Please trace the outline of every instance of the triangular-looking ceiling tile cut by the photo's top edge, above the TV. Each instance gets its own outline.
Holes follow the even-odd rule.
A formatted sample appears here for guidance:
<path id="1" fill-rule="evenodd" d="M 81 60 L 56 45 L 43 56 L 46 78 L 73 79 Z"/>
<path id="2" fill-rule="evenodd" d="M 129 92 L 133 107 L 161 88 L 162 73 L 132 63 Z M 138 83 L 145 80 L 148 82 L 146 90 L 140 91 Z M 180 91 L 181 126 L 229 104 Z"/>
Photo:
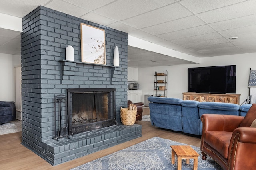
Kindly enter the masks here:
<path id="1" fill-rule="evenodd" d="M 246 0 L 182 0 L 180 3 L 197 14 L 243 1 Z"/>

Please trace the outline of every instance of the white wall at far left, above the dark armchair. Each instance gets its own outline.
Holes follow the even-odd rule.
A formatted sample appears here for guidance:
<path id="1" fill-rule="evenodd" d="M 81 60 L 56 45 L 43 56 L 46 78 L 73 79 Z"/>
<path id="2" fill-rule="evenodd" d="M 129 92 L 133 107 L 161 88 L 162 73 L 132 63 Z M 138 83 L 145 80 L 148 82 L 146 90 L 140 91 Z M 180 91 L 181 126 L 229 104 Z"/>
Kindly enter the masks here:
<path id="1" fill-rule="evenodd" d="M 0 101 L 15 101 L 15 69 L 20 56 L 0 53 Z"/>

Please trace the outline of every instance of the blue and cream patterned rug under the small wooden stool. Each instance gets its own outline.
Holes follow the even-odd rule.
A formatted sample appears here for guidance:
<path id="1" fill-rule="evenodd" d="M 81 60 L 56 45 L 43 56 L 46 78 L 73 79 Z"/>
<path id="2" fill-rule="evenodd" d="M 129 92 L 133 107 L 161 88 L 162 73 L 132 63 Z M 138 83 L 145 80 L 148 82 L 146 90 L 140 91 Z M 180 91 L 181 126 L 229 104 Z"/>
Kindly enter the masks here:
<path id="1" fill-rule="evenodd" d="M 186 145 L 160 137 L 153 137 L 126 149 L 109 154 L 102 158 L 88 162 L 72 170 L 176 170 L 175 164 L 171 164 L 170 145 Z M 222 170 L 222 168 L 210 157 L 202 160 L 199 147 L 191 146 L 198 154 L 198 170 Z M 189 164 L 182 159 L 182 170 L 192 170 L 193 160 Z"/>

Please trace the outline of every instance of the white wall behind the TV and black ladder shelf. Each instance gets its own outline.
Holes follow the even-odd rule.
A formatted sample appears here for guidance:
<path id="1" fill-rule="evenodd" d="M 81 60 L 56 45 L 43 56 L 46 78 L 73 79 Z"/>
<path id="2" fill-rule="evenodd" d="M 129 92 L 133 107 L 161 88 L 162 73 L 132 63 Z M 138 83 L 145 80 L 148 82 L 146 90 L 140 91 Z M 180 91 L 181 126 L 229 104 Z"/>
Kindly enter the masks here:
<path id="1" fill-rule="evenodd" d="M 138 83 L 142 89 L 142 102 L 144 102 L 145 94 L 153 95 L 155 71 L 159 73 L 168 71 L 168 97 L 182 99 L 182 93 L 187 92 L 189 67 L 220 65 L 236 65 L 236 94 L 241 94 L 240 104 L 242 104 L 249 95 L 250 68 L 256 70 L 256 53 L 204 57 L 200 59 L 200 64 L 139 68 Z"/>

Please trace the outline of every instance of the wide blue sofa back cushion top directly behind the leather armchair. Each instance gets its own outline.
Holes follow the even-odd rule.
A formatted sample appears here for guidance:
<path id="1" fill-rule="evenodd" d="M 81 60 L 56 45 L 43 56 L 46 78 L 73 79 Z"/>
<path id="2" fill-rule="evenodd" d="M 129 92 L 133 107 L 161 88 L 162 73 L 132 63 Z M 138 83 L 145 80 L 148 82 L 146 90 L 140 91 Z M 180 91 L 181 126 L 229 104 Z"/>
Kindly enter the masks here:
<path id="1" fill-rule="evenodd" d="M 201 102 L 198 104 L 201 109 L 223 110 L 223 111 L 238 111 L 240 105 L 232 103 L 220 103 L 220 102 Z"/>

